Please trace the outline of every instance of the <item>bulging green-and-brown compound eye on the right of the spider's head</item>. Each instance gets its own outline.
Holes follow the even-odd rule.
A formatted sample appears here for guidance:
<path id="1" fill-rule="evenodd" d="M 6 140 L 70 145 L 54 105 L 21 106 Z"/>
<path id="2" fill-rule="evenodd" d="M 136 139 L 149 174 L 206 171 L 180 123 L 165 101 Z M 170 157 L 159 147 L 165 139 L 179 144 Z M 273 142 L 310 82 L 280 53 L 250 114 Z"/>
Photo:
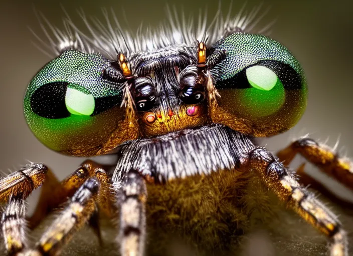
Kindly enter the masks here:
<path id="1" fill-rule="evenodd" d="M 234 33 L 211 51 L 215 49 L 227 51 L 211 72 L 221 95 L 218 111 L 228 121 L 245 119 L 252 128 L 248 133 L 255 136 L 295 125 L 305 110 L 307 88 L 302 68 L 287 48 L 263 35 Z"/>

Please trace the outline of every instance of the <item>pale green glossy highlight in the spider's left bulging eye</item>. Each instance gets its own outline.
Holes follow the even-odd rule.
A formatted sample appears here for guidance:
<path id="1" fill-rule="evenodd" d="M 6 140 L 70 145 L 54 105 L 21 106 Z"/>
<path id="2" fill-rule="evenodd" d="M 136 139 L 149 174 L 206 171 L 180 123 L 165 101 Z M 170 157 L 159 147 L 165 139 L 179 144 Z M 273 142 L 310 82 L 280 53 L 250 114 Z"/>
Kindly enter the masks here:
<path id="1" fill-rule="evenodd" d="M 65 104 L 70 113 L 76 115 L 91 115 L 94 111 L 94 97 L 73 88 L 67 88 Z"/>

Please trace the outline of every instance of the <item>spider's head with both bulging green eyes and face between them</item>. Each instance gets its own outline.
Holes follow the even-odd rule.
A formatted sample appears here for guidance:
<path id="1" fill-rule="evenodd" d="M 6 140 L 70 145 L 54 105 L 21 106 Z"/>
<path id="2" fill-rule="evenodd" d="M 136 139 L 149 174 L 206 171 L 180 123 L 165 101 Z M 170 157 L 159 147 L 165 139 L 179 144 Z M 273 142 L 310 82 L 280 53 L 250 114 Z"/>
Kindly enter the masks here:
<path id="1" fill-rule="evenodd" d="M 305 78 L 279 42 L 236 32 L 200 45 L 135 52 L 128 61 L 66 50 L 31 81 L 27 121 L 44 144 L 74 155 L 210 123 L 268 136 L 298 121 Z"/>

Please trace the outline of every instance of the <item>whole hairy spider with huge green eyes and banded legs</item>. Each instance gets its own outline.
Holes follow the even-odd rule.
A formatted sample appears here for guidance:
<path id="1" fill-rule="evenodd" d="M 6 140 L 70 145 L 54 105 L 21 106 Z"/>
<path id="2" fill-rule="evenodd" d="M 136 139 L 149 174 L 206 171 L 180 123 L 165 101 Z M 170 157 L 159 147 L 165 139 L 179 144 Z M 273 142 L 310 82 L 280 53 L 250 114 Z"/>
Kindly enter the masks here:
<path id="1" fill-rule="evenodd" d="M 175 22 L 139 39 L 98 23 L 103 37 L 90 40 L 66 24 L 74 33 L 56 33 L 58 56 L 27 89 L 27 122 L 53 150 L 119 158 L 113 168 L 87 160 L 60 182 L 43 163 L 2 178 L 8 254 L 59 254 L 85 223 L 99 233 L 99 213 L 119 216 L 121 255 L 142 255 L 146 233 L 159 238 L 169 228 L 206 250 L 227 250 L 247 231 L 244 217 L 254 210 L 247 199 L 259 181 L 329 238 L 331 255 L 347 255 L 336 216 L 286 165 L 299 153 L 351 186 L 350 163 L 309 138 L 278 157 L 254 140 L 288 130 L 305 109 L 305 77 L 287 48 L 246 33 L 237 18 L 210 34 Z M 29 248 L 24 200 L 39 186 L 31 227 L 70 199 Z"/>

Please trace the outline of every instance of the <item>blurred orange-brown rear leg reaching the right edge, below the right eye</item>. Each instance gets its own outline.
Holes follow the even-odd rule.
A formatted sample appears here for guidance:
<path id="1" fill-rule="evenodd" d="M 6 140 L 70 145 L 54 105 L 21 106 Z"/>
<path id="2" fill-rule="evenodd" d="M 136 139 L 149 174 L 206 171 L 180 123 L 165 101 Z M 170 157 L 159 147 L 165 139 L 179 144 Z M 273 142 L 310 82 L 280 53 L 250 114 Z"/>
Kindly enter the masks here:
<path id="1" fill-rule="evenodd" d="M 277 153 L 280 161 L 288 165 L 299 153 L 328 175 L 353 189 L 353 164 L 349 159 L 340 158 L 328 146 L 319 144 L 310 138 L 294 141 Z"/>

